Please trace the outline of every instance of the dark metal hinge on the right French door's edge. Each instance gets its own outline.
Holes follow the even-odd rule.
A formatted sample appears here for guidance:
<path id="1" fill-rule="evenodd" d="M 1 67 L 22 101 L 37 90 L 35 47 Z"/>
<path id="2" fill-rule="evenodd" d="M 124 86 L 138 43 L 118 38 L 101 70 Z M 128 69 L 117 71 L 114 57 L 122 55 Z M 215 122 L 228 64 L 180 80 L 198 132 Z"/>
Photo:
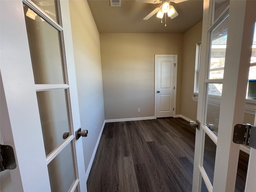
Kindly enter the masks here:
<path id="1" fill-rule="evenodd" d="M 233 142 L 256 149 L 256 127 L 250 124 L 236 124 L 234 126 Z"/>

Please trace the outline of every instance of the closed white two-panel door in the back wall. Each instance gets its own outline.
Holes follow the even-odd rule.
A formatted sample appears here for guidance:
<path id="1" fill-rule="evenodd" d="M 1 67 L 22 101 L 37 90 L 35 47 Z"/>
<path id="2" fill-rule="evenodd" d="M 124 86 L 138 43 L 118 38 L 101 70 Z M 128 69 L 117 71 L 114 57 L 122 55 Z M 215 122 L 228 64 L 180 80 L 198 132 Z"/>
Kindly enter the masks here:
<path id="1" fill-rule="evenodd" d="M 155 55 L 155 117 L 175 114 L 177 55 Z"/>

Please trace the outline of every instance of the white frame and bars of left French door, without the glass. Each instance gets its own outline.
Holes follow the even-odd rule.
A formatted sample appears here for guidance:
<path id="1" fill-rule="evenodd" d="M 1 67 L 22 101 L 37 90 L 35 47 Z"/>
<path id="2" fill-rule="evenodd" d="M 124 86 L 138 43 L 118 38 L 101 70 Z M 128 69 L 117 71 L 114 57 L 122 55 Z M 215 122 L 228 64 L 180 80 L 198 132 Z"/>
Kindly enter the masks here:
<path id="1" fill-rule="evenodd" d="M 33 4 L 30 0 L 26 3 Z M 10 170 L 13 189 L 50 191 L 47 161 L 54 158 L 55 154 L 46 158 L 36 90 L 67 88 L 74 128 L 70 141 L 75 140 L 74 132 L 80 127 L 68 1 L 60 1 L 68 84 L 46 86 L 34 84 L 22 0 L 2 0 L 0 4 L 1 132 L 4 144 L 12 146 L 16 156 L 17 168 Z M 48 16 L 46 19 L 52 20 Z M 82 139 L 74 143 L 76 172 L 79 180 L 85 181 Z M 76 184 L 79 180 L 75 181 Z M 79 185 L 81 191 L 86 191 L 86 182 L 79 182 Z M 70 190 L 74 191 L 75 188 Z"/>

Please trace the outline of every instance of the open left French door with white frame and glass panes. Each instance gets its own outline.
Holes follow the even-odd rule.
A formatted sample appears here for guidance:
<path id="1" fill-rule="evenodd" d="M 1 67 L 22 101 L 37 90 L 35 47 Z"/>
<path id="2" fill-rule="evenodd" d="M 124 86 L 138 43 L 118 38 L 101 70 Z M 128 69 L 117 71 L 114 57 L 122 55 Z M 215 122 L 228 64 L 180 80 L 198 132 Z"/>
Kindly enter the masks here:
<path id="1" fill-rule="evenodd" d="M 68 1 L 2 0 L 0 9 L 1 133 L 17 163 L 12 189 L 86 191 Z"/>

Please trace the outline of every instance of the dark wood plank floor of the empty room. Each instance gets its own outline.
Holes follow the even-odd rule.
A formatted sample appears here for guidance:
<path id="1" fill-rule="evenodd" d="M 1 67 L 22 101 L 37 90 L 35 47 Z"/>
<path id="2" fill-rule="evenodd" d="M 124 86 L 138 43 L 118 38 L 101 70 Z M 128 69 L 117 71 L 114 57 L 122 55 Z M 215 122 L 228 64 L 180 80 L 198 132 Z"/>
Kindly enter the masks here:
<path id="1" fill-rule="evenodd" d="M 190 192 L 194 142 L 195 128 L 182 118 L 106 123 L 88 192 Z M 206 154 L 213 156 L 214 147 L 208 149 Z M 247 154 L 240 157 L 236 191 L 244 190 L 248 164 Z M 210 164 L 205 164 L 209 170 Z"/>

